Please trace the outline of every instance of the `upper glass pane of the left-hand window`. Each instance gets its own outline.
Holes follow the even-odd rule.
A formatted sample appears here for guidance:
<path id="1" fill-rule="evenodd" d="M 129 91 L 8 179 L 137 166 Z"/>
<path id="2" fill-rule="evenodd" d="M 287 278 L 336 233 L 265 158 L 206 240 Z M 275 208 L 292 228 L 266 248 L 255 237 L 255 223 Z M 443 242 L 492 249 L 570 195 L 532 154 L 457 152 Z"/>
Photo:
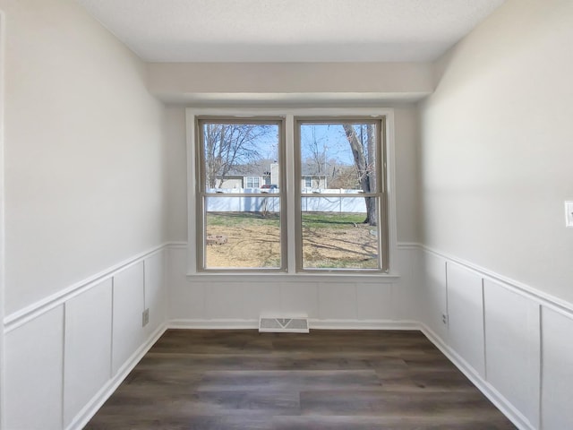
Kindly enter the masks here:
<path id="1" fill-rule="evenodd" d="M 200 121 L 201 190 L 207 193 L 261 193 L 261 185 L 278 188 L 278 124 Z"/>

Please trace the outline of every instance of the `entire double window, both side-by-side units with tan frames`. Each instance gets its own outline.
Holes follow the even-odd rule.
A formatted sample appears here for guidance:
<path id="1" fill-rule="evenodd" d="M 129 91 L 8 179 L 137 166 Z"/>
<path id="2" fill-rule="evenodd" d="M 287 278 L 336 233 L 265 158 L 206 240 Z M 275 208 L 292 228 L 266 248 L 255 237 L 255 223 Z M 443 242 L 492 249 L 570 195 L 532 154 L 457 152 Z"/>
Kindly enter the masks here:
<path id="1" fill-rule="evenodd" d="M 192 272 L 389 271 L 386 116 L 190 121 Z"/>

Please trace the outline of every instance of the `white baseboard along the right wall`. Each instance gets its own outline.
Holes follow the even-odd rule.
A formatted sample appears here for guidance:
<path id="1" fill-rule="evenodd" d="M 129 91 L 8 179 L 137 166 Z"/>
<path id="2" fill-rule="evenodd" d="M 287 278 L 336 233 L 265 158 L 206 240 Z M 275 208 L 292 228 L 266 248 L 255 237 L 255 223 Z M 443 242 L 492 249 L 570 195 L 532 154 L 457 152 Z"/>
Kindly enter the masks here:
<path id="1" fill-rule="evenodd" d="M 475 372 L 475 370 L 469 366 L 464 359 L 458 356 L 458 354 L 448 345 L 446 345 L 440 337 L 434 333 L 427 325 L 423 323 L 418 323 L 419 330 L 421 330 L 426 338 L 430 340 L 436 348 L 440 349 L 442 354 L 449 358 L 458 369 L 466 375 L 479 391 L 483 392 L 483 395 L 487 397 L 496 408 L 500 409 L 508 419 L 517 426 L 520 430 L 535 430 L 535 427 L 529 423 L 526 417 L 523 416 L 513 405 L 503 397 L 499 391 L 493 388 L 491 383 L 484 381 L 483 378 Z"/>

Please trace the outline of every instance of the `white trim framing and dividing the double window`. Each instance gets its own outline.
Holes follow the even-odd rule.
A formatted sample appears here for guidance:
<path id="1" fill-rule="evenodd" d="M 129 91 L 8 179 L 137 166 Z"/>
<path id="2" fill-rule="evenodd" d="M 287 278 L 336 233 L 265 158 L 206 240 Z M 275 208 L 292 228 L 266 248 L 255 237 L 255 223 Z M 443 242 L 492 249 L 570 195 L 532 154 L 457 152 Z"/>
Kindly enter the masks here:
<path id="1" fill-rule="evenodd" d="M 197 234 L 194 214 L 196 213 L 196 178 L 195 168 L 197 166 L 195 159 L 195 142 L 196 142 L 196 117 L 197 116 L 228 116 L 228 117 L 261 117 L 261 116 L 280 116 L 285 118 L 285 134 L 286 134 L 286 190 L 295 190 L 295 153 L 294 153 L 294 130 L 295 130 L 295 116 L 386 116 L 386 180 L 388 181 L 387 199 L 388 199 L 388 252 L 389 252 L 389 271 L 387 273 L 336 273 L 336 272 L 296 272 L 295 267 L 295 235 L 286 236 L 286 249 L 288 250 L 287 259 L 288 266 L 286 272 L 271 272 L 264 273 L 256 272 L 256 276 L 267 276 L 288 279 L 309 279 L 313 280 L 329 280 L 340 279 L 344 277 L 346 280 L 384 280 L 388 282 L 397 278 L 396 274 L 396 254 L 398 253 L 398 235 L 396 225 L 396 185 L 395 185 L 395 151 L 394 151 L 394 109 L 391 108 L 369 108 L 369 107 L 336 107 L 336 108 L 227 108 L 227 107 L 213 107 L 213 108 L 193 108 L 188 107 L 185 109 L 186 121 L 186 136 L 187 136 L 187 277 L 192 280 L 210 279 L 215 280 L 229 279 L 229 277 L 241 277 L 241 279 L 248 280 L 253 276 L 252 271 L 240 272 L 229 271 L 229 273 L 221 272 L 205 272 L 199 271 L 197 267 Z M 300 180 L 300 178 L 298 179 Z M 287 212 L 287 231 L 295 231 L 295 193 L 286 193 L 286 212 Z M 192 216 L 189 216 L 192 214 Z M 260 274 L 261 273 L 261 274 Z"/>

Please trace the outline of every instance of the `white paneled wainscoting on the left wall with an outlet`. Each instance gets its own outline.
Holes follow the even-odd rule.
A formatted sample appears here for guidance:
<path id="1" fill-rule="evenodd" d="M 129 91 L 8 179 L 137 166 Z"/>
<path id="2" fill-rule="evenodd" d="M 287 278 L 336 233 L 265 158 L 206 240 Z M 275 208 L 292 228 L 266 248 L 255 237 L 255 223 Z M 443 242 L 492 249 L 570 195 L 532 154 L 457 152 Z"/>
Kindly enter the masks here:
<path id="1" fill-rule="evenodd" d="M 165 331 L 166 254 L 158 247 L 8 315 L 5 428 L 85 425 Z"/>

